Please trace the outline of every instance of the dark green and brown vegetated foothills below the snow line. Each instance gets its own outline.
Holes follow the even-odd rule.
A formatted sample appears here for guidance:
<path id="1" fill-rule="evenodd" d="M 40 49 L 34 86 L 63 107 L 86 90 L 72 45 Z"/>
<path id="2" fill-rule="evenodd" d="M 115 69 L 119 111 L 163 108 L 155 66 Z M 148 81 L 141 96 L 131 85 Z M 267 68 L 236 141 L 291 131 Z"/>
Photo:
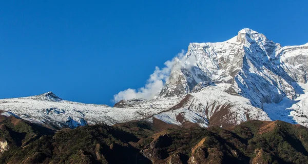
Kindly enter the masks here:
<path id="1" fill-rule="evenodd" d="M 0 163 L 308 163 L 308 130 L 283 121 L 229 129 L 135 121 L 57 132 L 12 116 L 0 121 Z"/>

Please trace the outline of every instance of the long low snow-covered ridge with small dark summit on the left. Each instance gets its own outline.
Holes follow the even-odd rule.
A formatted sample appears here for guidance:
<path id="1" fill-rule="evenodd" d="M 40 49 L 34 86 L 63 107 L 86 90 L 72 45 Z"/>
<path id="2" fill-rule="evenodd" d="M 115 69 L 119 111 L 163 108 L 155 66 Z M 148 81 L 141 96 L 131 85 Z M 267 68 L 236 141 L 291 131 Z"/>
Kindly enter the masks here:
<path id="1" fill-rule="evenodd" d="M 113 125 L 142 119 L 179 103 L 180 98 L 144 100 L 129 108 L 112 108 L 106 105 L 83 104 L 63 100 L 52 92 L 42 95 L 0 100 L 0 110 L 55 128 L 78 127 L 86 124 Z M 157 102 L 160 102 L 159 104 Z"/>

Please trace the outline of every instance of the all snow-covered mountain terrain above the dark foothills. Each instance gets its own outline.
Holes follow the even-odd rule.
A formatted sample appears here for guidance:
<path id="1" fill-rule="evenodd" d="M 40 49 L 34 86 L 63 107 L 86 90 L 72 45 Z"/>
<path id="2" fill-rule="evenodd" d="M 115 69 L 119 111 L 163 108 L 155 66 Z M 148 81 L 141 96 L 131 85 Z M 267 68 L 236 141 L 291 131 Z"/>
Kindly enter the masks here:
<path id="1" fill-rule="evenodd" d="M 49 92 L 2 99 L 0 110 L 58 128 L 136 119 L 202 127 L 280 119 L 308 127 L 307 71 L 308 43 L 282 47 L 243 29 L 225 42 L 189 44 L 157 99 L 121 100 L 109 107 L 66 101 Z"/>

